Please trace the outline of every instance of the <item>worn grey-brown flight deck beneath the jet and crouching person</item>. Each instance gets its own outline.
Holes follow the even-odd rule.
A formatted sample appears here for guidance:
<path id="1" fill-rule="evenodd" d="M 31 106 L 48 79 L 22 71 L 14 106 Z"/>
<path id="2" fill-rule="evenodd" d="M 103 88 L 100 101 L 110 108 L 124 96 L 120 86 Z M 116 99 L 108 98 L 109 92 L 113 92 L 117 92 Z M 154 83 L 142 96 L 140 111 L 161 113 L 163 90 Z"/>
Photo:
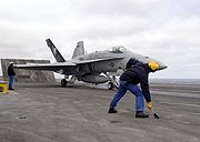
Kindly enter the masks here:
<path id="1" fill-rule="evenodd" d="M 84 84 L 19 83 L 0 95 L 1 142 L 199 142 L 200 87 L 150 84 L 154 111 L 134 118 L 127 93 L 108 114 L 116 90 Z"/>

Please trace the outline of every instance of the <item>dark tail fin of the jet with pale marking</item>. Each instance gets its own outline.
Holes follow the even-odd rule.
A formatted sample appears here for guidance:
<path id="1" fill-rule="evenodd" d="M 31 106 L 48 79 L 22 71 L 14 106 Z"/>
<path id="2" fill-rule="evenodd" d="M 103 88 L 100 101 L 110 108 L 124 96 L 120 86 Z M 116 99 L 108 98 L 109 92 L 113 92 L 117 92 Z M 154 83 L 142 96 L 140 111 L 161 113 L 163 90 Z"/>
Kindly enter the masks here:
<path id="1" fill-rule="evenodd" d="M 50 39 L 46 40 L 47 45 L 51 49 L 54 59 L 57 60 L 57 62 L 66 62 L 66 60 L 63 59 L 63 57 L 60 54 L 60 52 L 58 51 L 58 49 L 54 47 L 54 44 L 52 43 L 52 41 Z"/>

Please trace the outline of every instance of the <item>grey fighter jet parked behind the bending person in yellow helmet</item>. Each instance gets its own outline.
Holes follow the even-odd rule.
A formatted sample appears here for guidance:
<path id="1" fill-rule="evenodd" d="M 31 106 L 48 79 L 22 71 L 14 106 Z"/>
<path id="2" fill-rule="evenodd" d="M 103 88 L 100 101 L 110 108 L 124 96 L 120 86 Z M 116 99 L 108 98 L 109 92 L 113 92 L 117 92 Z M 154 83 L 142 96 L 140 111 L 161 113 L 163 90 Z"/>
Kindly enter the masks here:
<path id="1" fill-rule="evenodd" d="M 61 80 L 61 87 L 67 87 L 67 84 L 73 83 L 76 80 L 78 80 L 94 84 L 108 82 L 108 88 L 112 89 L 118 84 L 113 78 L 111 78 L 110 73 L 124 70 L 127 62 L 131 58 L 143 63 L 156 61 L 159 64 L 158 70 L 163 70 L 167 68 L 167 65 L 161 61 L 133 53 L 122 45 L 111 47 L 110 50 L 86 53 L 83 41 L 79 41 L 77 43 L 71 60 L 64 60 L 52 41 L 50 39 L 47 39 L 46 41 L 57 62 L 46 64 L 14 64 L 14 68 L 47 70 L 64 74 L 64 79 Z M 69 79 L 69 75 L 71 75 L 71 78 L 70 80 L 67 80 Z"/>

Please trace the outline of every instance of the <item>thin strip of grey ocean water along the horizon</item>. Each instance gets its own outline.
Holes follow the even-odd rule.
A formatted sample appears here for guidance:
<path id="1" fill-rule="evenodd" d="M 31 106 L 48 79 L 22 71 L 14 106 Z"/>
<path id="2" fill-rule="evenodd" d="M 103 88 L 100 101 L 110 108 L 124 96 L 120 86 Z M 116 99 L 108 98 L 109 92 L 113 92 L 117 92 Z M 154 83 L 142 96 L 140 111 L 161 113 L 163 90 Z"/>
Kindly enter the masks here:
<path id="1" fill-rule="evenodd" d="M 150 79 L 150 83 L 199 84 L 200 79 Z"/>

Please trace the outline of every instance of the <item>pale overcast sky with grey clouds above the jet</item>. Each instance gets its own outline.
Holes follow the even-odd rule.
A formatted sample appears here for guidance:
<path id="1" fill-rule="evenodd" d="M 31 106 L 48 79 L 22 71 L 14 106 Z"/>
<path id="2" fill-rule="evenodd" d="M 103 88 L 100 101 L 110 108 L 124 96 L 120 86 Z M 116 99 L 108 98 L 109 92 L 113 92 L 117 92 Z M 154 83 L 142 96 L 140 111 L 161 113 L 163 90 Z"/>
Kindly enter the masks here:
<path id="1" fill-rule="evenodd" d="M 66 59 L 123 45 L 168 69 L 151 78 L 200 79 L 200 0 L 0 0 L 0 58 Z"/>

